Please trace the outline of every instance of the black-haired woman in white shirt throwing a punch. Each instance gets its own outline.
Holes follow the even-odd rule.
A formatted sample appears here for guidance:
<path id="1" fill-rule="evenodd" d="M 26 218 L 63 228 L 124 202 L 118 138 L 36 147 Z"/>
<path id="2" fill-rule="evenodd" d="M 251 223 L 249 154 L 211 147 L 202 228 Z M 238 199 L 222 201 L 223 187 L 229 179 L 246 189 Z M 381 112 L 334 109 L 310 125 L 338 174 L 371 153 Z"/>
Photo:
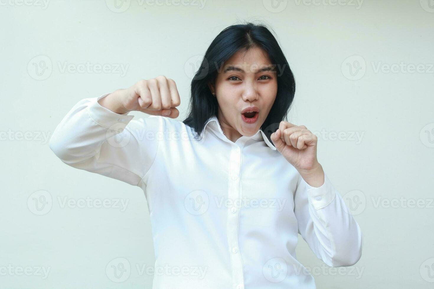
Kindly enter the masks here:
<path id="1" fill-rule="evenodd" d="M 298 234 L 337 267 L 359 260 L 362 232 L 316 136 L 283 120 L 294 93 L 269 29 L 233 25 L 207 49 L 183 122 L 175 82 L 158 76 L 79 101 L 49 144 L 69 166 L 143 189 L 153 288 L 316 288 L 296 259 Z"/>

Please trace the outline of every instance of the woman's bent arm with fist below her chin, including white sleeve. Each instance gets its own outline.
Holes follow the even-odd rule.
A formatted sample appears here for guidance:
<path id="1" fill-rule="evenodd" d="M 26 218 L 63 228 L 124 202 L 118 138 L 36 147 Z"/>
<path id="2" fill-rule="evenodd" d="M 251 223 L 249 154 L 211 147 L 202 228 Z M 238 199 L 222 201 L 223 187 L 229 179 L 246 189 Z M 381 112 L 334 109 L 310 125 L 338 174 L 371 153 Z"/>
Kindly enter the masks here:
<path id="1" fill-rule="evenodd" d="M 317 160 L 317 137 L 305 126 L 282 121 L 271 140 L 299 172 L 294 194 L 299 234 L 327 266 L 357 263 L 362 231 Z"/>

